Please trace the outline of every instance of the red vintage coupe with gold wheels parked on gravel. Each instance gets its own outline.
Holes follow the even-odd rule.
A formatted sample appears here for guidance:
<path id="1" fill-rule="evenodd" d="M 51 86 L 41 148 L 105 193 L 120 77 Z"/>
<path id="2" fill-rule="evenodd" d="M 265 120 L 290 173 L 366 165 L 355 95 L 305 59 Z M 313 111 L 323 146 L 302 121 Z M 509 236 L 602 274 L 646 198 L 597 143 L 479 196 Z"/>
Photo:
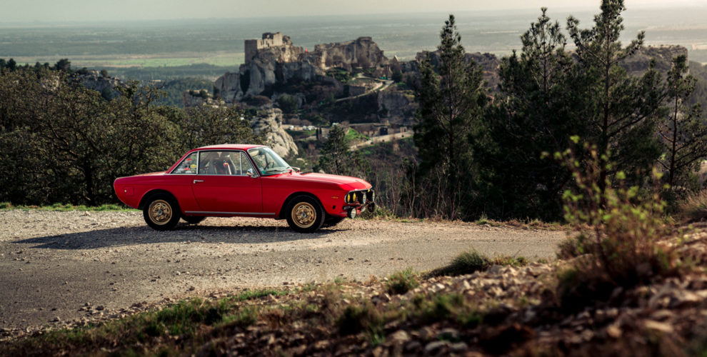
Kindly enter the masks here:
<path id="1" fill-rule="evenodd" d="M 196 224 L 211 216 L 244 216 L 286 219 L 295 231 L 309 233 L 375 208 L 370 183 L 301 173 L 261 145 L 204 146 L 167 171 L 119 177 L 113 186 L 159 231 L 174 228 L 179 218 Z"/>

